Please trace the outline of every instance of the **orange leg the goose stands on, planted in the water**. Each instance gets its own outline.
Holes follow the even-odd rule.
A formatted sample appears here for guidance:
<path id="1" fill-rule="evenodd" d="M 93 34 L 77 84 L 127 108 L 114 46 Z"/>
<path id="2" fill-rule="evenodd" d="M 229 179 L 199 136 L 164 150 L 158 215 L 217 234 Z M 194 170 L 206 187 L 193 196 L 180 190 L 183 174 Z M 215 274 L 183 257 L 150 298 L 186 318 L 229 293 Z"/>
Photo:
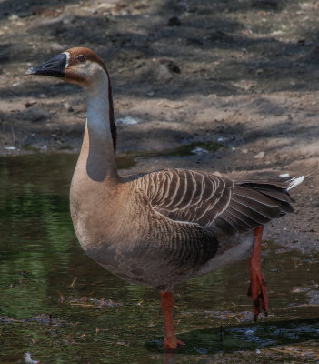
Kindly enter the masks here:
<path id="1" fill-rule="evenodd" d="M 173 324 L 173 294 L 172 292 L 160 292 L 160 294 L 165 325 L 164 348 L 176 349 L 185 344 L 176 338 Z"/>

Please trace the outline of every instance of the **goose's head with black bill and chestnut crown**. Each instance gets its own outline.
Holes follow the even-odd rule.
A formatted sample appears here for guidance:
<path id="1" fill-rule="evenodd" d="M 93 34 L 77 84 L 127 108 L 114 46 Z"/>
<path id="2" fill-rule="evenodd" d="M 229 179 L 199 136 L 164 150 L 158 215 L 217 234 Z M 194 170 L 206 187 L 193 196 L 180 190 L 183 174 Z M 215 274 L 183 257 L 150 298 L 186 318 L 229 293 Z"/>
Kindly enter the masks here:
<path id="1" fill-rule="evenodd" d="M 108 76 L 100 56 L 89 48 L 75 47 L 42 65 L 31 67 L 26 74 L 53 76 L 87 88 L 98 81 L 104 72 Z"/>

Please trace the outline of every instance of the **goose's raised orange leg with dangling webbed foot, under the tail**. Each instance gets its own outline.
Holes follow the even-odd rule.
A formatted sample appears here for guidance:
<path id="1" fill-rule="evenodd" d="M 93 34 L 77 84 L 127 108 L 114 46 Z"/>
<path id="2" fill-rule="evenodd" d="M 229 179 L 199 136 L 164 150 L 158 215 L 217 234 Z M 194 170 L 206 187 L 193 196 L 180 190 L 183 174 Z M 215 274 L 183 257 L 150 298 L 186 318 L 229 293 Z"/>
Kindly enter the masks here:
<path id="1" fill-rule="evenodd" d="M 264 309 L 265 316 L 268 315 L 268 294 L 264 275 L 262 273 L 262 237 L 264 227 L 254 229 L 253 253 L 250 258 L 250 286 L 248 296 L 251 296 L 254 308 L 254 321 Z"/>

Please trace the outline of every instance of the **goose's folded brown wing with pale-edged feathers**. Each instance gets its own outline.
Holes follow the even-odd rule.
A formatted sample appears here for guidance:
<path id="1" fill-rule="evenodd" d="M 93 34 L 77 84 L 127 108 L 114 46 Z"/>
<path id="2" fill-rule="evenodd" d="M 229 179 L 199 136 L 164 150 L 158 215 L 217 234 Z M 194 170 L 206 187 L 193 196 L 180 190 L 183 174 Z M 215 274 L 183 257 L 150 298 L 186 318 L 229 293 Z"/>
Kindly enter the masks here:
<path id="1" fill-rule="evenodd" d="M 136 180 L 151 206 L 174 221 L 205 227 L 215 236 L 235 234 L 293 212 L 292 178 L 231 179 L 185 169 L 149 173 Z"/>

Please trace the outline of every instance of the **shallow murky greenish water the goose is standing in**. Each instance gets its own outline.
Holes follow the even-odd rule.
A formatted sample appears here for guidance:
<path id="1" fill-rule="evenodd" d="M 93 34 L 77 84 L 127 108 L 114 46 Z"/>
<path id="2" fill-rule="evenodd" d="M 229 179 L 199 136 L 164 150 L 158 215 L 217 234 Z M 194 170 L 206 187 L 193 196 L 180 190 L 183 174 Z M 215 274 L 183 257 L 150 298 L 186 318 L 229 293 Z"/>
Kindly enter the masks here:
<path id="1" fill-rule="evenodd" d="M 29 354 L 45 364 L 319 362 L 319 256 L 273 242 L 264 242 L 269 317 L 252 322 L 245 260 L 175 288 L 187 345 L 164 354 L 155 289 L 115 278 L 76 241 L 75 162 L 70 154 L 0 159 L 0 362 Z"/>

